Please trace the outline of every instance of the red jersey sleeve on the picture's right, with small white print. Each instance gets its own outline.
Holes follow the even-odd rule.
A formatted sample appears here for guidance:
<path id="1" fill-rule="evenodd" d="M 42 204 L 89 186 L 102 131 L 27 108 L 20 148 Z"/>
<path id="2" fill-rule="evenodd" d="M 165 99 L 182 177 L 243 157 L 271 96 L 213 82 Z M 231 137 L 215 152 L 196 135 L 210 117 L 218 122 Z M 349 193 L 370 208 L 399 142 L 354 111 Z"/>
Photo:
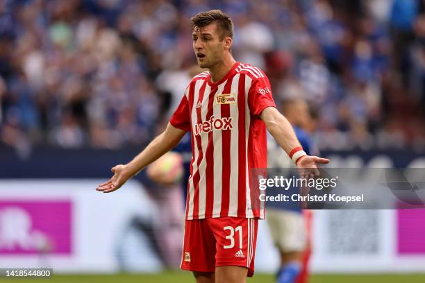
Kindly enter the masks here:
<path id="1" fill-rule="evenodd" d="M 248 93 L 249 110 L 256 116 L 269 106 L 276 107 L 272 96 L 272 87 L 270 87 L 267 77 L 256 78 L 253 80 Z"/>

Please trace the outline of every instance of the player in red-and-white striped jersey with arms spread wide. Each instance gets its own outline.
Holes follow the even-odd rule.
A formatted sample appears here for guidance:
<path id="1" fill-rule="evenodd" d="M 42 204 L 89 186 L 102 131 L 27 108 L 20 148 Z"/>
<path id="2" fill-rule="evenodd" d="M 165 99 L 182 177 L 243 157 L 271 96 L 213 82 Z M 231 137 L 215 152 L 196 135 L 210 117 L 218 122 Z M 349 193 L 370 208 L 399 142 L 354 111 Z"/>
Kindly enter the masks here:
<path id="1" fill-rule="evenodd" d="M 199 67 L 165 131 L 113 177 L 97 187 L 110 193 L 191 134 L 192 163 L 186 201 L 181 268 L 201 282 L 245 282 L 253 275 L 258 218 L 264 205 L 251 187 L 251 169 L 267 167 L 266 128 L 307 175 L 328 160 L 302 150 L 276 110 L 269 80 L 231 54 L 233 22 L 220 10 L 191 19 Z M 166 209 L 166 208 L 165 208 Z"/>

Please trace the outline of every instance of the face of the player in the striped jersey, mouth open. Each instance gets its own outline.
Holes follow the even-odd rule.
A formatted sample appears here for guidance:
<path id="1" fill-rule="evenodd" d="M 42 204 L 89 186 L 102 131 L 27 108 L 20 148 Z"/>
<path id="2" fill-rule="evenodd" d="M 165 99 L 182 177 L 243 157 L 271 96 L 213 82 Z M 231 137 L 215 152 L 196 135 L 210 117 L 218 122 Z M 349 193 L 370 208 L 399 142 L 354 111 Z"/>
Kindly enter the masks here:
<path id="1" fill-rule="evenodd" d="M 226 40 L 217 31 L 217 24 L 211 23 L 194 30 L 192 40 L 199 67 L 208 69 L 223 60 Z"/>

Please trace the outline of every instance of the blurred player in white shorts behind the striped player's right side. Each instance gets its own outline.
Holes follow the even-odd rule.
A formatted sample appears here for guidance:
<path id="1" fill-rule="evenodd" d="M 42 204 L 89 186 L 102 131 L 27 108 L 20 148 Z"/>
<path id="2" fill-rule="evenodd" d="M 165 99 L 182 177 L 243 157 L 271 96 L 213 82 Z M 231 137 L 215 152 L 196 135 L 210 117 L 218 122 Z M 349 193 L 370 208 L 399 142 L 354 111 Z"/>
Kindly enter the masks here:
<path id="1" fill-rule="evenodd" d="M 281 110 L 290 121 L 294 131 L 306 153 L 317 152 L 313 140 L 306 129 L 315 126 L 308 104 L 301 93 L 297 98 L 285 98 L 281 101 Z M 279 172 L 294 173 L 292 160 L 276 144 L 273 139 L 267 140 L 267 167 L 278 169 Z M 267 194 L 276 194 L 276 188 L 271 188 Z M 310 257 L 310 225 L 311 212 L 301 210 L 299 203 L 267 203 L 267 223 L 272 239 L 281 257 L 281 266 L 277 274 L 278 283 L 307 282 L 308 259 Z"/>

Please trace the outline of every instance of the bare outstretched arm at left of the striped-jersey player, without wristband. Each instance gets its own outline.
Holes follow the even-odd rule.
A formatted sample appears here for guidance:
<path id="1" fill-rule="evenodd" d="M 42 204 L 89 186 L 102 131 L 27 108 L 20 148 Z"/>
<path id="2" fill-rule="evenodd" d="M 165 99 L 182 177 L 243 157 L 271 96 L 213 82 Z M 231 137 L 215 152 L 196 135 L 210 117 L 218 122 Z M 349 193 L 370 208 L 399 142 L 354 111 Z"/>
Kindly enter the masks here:
<path id="1" fill-rule="evenodd" d="M 174 127 L 168 123 L 163 133 L 158 135 L 151 143 L 144 148 L 134 159 L 128 164 L 119 164 L 114 166 L 111 171 L 114 173 L 110 180 L 99 185 L 96 190 L 103 193 L 110 193 L 119 189 L 124 183 L 140 172 L 144 167 L 148 166 L 159 157 L 170 151 L 185 135 L 185 130 Z"/>

